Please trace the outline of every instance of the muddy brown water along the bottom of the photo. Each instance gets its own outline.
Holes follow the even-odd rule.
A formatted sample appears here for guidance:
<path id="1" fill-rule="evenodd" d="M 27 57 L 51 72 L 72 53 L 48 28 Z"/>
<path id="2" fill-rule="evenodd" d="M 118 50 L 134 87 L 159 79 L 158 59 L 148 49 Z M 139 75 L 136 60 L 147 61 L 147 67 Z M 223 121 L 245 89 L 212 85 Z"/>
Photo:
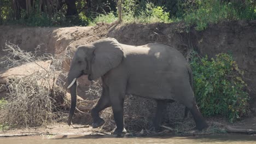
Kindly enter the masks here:
<path id="1" fill-rule="evenodd" d="M 256 135 L 208 135 L 208 136 L 162 136 L 162 137 L 122 137 L 114 136 L 25 136 L 0 138 L 1 144 L 66 144 L 66 143 L 207 143 L 236 144 L 256 143 Z"/>

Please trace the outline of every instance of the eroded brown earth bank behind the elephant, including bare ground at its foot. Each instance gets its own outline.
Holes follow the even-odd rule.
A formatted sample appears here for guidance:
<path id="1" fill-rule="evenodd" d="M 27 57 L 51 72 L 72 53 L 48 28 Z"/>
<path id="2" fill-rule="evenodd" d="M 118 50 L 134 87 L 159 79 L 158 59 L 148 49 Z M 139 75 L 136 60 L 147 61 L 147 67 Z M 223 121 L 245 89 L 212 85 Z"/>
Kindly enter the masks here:
<path id="1" fill-rule="evenodd" d="M 189 30 L 189 32 L 185 32 Z M 222 118 L 208 118 L 207 122 L 211 124 L 210 131 L 206 133 L 192 133 L 192 135 L 200 134 L 214 134 L 226 133 L 225 125 L 231 125 L 239 129 L 256 129 L 256 22 L 255 21 L 235 21 L 223 22 L 217 25 L 212 25 L 205 31 L 196 31 L 195 29 L 185 29 L 183 23 L 154 23 L 149 25 L 132 23 L 130 25 L 118 25 L 117 23 L 104 24 L 99 23 L 95 27 L 20 27 L 20 26 L 1 26 L 0 27 L 0 61 L 7 53 L 2 51 L 5 46 L 5 41 L 10 41 L 15 45 L 19 45 L 22 50 L 34 51 L 40 45 L 40 52 L 38 56 L 43 53 L 51 53 L 54 56 L 61 55 L 67 50 L 74 50 L 75 47 L 82 44 L 91 43 L 92 41 L 113 37 L 120 43 L 129 45 L 143 45 L 147 43 L 161 43 L 176 47 L 183 53 L 185 57 L 192 48 L 194 48 L 201 55 L 208 55 L 214 57 L 220 52 L 232 52 L 238 67 L 245 71 L 245 81 L 248 83 L 251 91 L 249 93 L 251 99 L 249 115 L 242 118 L 236 123 L 228 123 Z M 188 58 L 188 57 L 187 57 Z M 33 63 L 33 62 L 32 62 Z M 44 69 L 48 69 L 52 62 L 42 62 Z M 62 64 L 63 71 L 68 71 L 70 58 L 65 59 Z M 38 64 L 38 63 L 37 63 Z M 37 64 L 25 64 L 28 67 L 15 67 L 7 69 L 5 65 L 0 66 L 0 84 L 6 87 L 7 79 L 14 75 L 28 75 L 33 74 L 34 71 L 39 70 Z M 30 65 L 30 66 L 29 66 Z M 32 70 L 32 71 L 31 71 Z M 29 71 L 29 73 L 28 73 Z M 63 81 L 63 77 L 61 78 Z M 73 119 L 74 127 L 68 127 L 66 123 L 51 123 L 47 126 L 27 128 L 27 129 L 10 129 L 1 131 L 2 135 L 87 135 L 94 133 L 95 129 L 91 129 L 88 124 L 91 124 L 90 109 L 98 98 L 98 93 L 95 95 L 88 95 L 88 90 L 91 88 L 91 82 L 87 80 L 86 76 L 82 76 L 78 80 L 78 109 L 85 113 L 76 113 Z M 62 83 L 63 84 L 63 83 Z M 60 85 L 62 87 L 63 85 Z M 2 87 L 0 98 L 6 97 L 8 90 Z M 98 85 L 95 85 L 98 87 Z M 68 93 L 66 93 L 67 97 Z M 155 102 L 137 97 L 127 97 L 125 105 L 125 123 L 128 129 L 136 130 L 140 133 L 142 129 L 149 126 L 150 118 L 152 118 L 155 109 Z M 139 103 L 138 103 L 139 101 Z M 64 113 L 68 112 L 69 104 L 62 103 L 62 110 Z M 135 112 L 143 111 L 147 117 L 136 115 Z M 113 117 L 109 115 L 112 111 L 110 109 L 102 113 L 103 118 L 108 119 L 102 129 L 96 129 L 97 134 L 106 133 L 113 129 Z M 104 115 L 104 113 L 107 115 Z M 187 123 L 183 123 L 184 107 L 178 103 L 168 105 L 165 112 L 165 123 L 172 128 L 174 134 L 179 134 L 181 129 L 175 127 L 177 124 L 188 125 L 187 129 L 182 129 L 184 133 L 190 135 L 190 130 L 194 123 L 191 117 Z M 67 117 L 62 117 L 62 122 L 65 122 Z M 147 122 L 147 123 L 146 123 Z M 216 123 L 217 122 L 217 123 Z M 221 123 L 221 124 L 218 124 Z M 222 125 L 224 124 L 224 125 Z M 86 125 L 86 126 L 84 126 Z M 137 126 L 139 125 L 139 127 Z M 82 127 L 82 128 L 80 128 Z M 98 133 L 100 131 L 101 133 Z M 107 132 L 106 132 L 107 131 Z M 173 131 L 168 133 L 173 134 Z M 145 130 L 143 133 L 146 133 Z"/>

